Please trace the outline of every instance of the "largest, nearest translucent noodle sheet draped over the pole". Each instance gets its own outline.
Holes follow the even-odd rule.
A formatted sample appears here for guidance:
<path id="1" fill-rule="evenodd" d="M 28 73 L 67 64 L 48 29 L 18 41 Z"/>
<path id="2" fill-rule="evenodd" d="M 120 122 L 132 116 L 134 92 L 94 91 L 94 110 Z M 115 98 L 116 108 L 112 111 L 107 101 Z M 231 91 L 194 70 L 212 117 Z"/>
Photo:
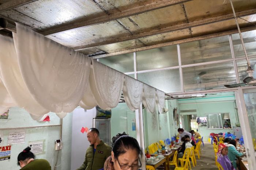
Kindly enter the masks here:
<path id="1" fill-rule="evenodd" d="M 87 88 L 91 59 L 18 23 L 16 31 L 20 72 L 33 98 L 49 111 L 72 112 Z"/>

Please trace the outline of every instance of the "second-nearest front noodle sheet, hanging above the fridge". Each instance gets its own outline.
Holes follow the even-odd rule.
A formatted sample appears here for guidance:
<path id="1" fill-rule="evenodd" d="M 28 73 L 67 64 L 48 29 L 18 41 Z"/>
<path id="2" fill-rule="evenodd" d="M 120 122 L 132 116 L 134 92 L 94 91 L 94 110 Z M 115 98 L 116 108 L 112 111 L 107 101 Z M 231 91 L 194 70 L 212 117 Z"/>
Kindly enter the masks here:
<path id="1" fill-rule="evenodd" d="M 124 75 L 94 59 L 93 76 L 90 77 L 91 91 L 98 106 L 110 110 L 117 106 L 123 88 Z"/>

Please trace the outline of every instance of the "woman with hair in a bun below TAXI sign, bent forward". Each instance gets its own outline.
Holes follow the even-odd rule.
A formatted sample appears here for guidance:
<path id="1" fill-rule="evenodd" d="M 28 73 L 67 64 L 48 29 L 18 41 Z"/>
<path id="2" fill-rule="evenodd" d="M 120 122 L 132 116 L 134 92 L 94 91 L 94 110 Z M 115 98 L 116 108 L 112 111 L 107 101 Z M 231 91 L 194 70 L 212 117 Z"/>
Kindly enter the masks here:
<path id="1" fill-rule="evenodd" d="M 45 159 L 35 159 L 35 155 L 27 147 L 18 155 L 20 170 L 52 170 L 50 163 Z"/>

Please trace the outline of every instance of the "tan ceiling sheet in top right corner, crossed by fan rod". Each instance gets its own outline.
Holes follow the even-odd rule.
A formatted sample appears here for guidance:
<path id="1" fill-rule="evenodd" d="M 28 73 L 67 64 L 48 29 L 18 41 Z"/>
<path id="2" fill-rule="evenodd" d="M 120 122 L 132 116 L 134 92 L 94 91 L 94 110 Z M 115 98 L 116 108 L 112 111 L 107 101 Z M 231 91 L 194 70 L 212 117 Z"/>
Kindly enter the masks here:
<path id="1" fill-rule="evenodd" d="M 236 12 L 256 7 L 255 0 L 233 0 L 233 4 Z M 189 22 L 233 13 L 229 0 L 193 0 L 184 7 Z"/>

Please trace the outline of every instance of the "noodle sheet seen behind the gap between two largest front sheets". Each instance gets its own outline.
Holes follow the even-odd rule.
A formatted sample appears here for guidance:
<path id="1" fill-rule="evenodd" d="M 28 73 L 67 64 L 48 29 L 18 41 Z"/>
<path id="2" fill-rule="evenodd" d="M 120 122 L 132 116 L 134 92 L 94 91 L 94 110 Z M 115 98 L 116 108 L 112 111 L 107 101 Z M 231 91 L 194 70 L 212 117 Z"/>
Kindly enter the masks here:
<path id="1" fill-rule="evenodd" d="M 90 78 L 90 80 L 94 81 L 93 68 L 91 68 L 89 78 Z M 96 100 L 94 99 L 93 93 L 91 92 L 90 83 L 88 83 L 87 88 L 85 89 L 83 98 L 79 103 L 79 106 L 81 106 L 84 109 L 91 109 L 97 105 L 98 104 L 97 104 Z"/>

